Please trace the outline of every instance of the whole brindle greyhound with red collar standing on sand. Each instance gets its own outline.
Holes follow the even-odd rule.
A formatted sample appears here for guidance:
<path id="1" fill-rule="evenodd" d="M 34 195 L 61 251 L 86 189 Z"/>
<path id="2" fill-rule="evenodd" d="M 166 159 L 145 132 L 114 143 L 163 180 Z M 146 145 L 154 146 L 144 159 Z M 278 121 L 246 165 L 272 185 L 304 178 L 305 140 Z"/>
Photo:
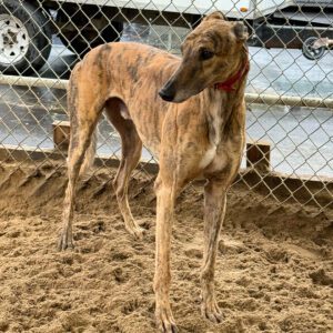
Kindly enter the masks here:
<path id="1" fill-rule="evenodd" d="M 238 173 L 244 147 L 246 38 L 241 22 L 228 22 L 215 12 L 186 37 L 182 59 L 143 44 L 109 43 L 91 50 L 70 78 L 69 183 L 59 248 L 73 246 L 74 189 L 80 170 L 93 160 L 93 132 L 104 110 L 122 141 L 113 183 L 117 200 L 127 230 L 138 238 L 142 229 L 129 208 L 129 178 L 142 142 L 159 159 L 154 292 L 162 332 L 176 331 L 169 301 L 174 202 L 196 176 L 206 179 L 201 309 L 214 323 L 222 319 L 214 295 L 214 264 L 225 192 Z"/>

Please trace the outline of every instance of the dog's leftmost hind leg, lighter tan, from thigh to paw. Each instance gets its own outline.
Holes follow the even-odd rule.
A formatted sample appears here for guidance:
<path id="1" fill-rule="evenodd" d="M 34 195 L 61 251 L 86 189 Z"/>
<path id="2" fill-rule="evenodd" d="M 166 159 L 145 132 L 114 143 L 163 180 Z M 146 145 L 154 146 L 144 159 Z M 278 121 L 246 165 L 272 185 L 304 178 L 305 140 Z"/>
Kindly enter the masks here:
<path id="1" fill-rule="evenodd" d="M 92 133 L 98 123 L 101 108 L 85 99 L 82 104 L 75 99 L 74 91 L 69 90 L 68 107 L 71 109 L 71 135 L 68 153 L 68 186 L 63 203 L 62 232 L 59 239 L 58 249 L 65 250 L 73 248 L 72 220 L 74 212 L 75 185 L 83 159 L 91 143 Z M 87 109 L 87 105 L 90 105 Z"/>

